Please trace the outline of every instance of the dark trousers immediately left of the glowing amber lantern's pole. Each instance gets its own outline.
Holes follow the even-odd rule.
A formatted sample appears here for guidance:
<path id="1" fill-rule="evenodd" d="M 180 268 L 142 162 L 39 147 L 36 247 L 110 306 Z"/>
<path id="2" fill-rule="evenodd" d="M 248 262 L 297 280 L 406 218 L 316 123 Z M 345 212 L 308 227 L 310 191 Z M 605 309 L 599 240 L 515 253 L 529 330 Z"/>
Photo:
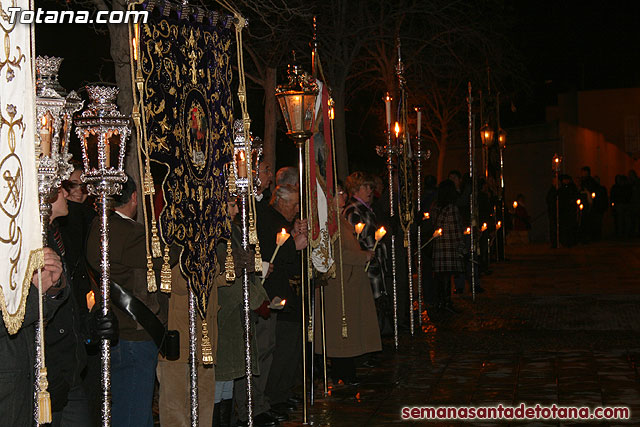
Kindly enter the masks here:
<path id="1" fill-rule="evenodd" d="M 276 322 L 276 347 L 265 394 L 271 405 L 293 396 L 302 359 L 302 326 L 299 322 Z"/>

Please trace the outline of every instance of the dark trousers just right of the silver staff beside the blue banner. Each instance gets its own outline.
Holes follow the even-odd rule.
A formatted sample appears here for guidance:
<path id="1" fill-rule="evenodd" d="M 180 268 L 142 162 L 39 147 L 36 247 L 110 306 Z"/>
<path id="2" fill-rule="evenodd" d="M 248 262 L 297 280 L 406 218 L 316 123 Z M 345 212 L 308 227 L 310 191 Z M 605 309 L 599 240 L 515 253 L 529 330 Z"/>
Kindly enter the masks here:
<path id="1" fill-rule="evenodd" d="M 271 409 L 269 399 L 265 395 L 269 371 L 276 349 L 276 317 L 273 311 L 267 320 L 258 318 L 255 324 L 256 345 L 258 347 L 258 368 L 260 375 L 254 375 L 251 385 L 253 391 L 253 415 L 260 415 Z M 234 381 L 233 400 L 240 421 L 247 421 L 247 378 L 242 377 Z"/>

